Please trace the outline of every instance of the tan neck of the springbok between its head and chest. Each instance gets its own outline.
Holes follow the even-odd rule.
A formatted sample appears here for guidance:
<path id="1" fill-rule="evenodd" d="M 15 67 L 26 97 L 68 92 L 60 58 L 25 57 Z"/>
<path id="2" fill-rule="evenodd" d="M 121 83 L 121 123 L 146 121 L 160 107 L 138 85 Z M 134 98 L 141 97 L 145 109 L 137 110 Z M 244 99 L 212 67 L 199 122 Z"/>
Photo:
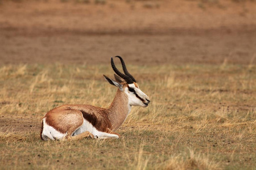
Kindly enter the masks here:
<path id="1" fill-rule="evenodd" d="M 112 124 L 112 130 L 117 130 L 123 124 L 129 112 L 128 97 L 125 92 L 118 89 L 112 104 L 108 108 L 108 117 Z"/>

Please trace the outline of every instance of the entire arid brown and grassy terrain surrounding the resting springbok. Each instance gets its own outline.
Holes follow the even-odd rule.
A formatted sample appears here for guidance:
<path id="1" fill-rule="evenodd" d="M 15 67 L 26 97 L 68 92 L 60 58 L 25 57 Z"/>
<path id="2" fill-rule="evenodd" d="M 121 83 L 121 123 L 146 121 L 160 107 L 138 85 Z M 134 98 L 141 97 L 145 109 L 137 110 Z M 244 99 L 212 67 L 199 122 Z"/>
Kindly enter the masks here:
<path id="1" fill-rule="evenodd" d="M 0 0 L 1 169 L 254 169 L 255 47 L 255 1 Z M 50 109 L 109 106 L 117 55 L 149 107 L 118 140 L 40 141 Z"/>

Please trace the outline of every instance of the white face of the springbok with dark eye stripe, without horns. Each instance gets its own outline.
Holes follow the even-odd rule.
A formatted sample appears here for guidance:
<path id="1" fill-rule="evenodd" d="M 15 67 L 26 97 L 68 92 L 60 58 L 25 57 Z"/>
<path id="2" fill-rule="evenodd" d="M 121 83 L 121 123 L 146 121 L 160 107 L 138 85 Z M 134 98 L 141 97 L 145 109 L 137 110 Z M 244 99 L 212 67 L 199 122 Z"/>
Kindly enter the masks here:
<path id="1" fill-rule="evenodd" d="M 147 107 L 150 103 L 149 97 L 139 87 L 136 87 L 135 84 L 128 84 L 128 88 L 125 88 L 125 93 L 128 96 L 129 105 Z"/>

